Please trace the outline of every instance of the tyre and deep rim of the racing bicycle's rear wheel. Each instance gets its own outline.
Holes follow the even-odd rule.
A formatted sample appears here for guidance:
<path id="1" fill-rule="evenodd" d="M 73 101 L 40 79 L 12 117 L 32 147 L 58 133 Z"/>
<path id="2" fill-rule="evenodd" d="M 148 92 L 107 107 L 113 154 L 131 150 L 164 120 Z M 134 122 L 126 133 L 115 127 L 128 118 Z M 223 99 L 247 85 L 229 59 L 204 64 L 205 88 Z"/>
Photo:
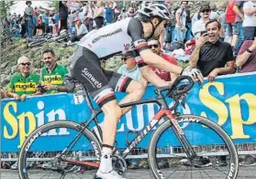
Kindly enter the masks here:
<path id="1" fill-rule="evenodd" d="M 20 179 L 33 179 L 32 177 L 29 178 L 28 173 L 27 173 L 26 158 L 27 158 L 27 153 L 28 153 L 29 148 L 27 149 L 27 151 L 26 151 L 26 148 L 30 147 L 32 145 L 32 143 L 36 141 L 36 138 L 39 137 L 39 132 L 40 133 L 49 132 L 50 130 L 54 130 L 57 128 L 68 128 L 68 129 L 72 129 L 76 132 L 80 132 L 81 129 L 79 127 L 81 127 L 81 125 L 74 121 L 50 121 L 49 123 L 40 126 L 34 132 L 31 132 L 29 134 L 27 140 L 23 143 L 21 150 L 20 150 L 19 157 L 18 157 L 19 178 Z M 90 140 L 90 142 L 94 142 L 94 144 L 95 144 L 94 148 L 96 147 L 97 153 L 99 154 L 98 160 L 100 160 L 99 158 L 101 156 L 101 145 L 98 142 L 95 135 L 93 134 L 93 132 L 90 132 L 88 129 L 84 129 L 83 136 L 86 136 Z"/>

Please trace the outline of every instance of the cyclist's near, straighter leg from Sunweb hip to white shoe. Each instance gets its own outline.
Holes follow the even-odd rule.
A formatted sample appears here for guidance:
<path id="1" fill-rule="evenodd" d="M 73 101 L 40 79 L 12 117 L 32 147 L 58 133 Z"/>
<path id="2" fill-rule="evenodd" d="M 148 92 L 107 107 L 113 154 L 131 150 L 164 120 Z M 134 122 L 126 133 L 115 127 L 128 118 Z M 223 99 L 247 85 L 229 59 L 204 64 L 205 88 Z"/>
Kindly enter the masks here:
<path id="1" fill-rule="evenodd" d="M 100 67 L 100 60 L 93 52 L 80 47 L 73 56 L 71 72 L 75 79 L 86 86 L 95 102 L 105 113 L 103 150 L 98 172 L 110 174 L 111 177 L 113 174 L 111 154 L 116 138 L 117 122 L 122 111 L 117 104 L 115 93 L 108 85 L 108 80 Z M 112 178 L 118 178 L 117 174 L 114 175 Z"/>

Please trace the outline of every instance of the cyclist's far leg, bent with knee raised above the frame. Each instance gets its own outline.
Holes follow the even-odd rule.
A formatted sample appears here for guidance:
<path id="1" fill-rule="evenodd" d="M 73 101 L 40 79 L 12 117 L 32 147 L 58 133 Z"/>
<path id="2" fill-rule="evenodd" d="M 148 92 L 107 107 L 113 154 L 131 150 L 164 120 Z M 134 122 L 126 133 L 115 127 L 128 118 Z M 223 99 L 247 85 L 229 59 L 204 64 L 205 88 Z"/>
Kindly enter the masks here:
<path id="1" fill-rule="evenodd" d="M 140 100 L 145 92 L 145 88 L 139 81 L 130 79 L 129 77 L 123 76 L 121 74 L 115 73 L 109 70 L 103 70 L 108 79 L 108 84 L 112 89 L 119 92 L 127 92 L 128 95 L 119 102 L 119 104 L 124 104 L 127 102 Z M 131 107 L 122 108 L 123 114 L 128 112 Z"/>

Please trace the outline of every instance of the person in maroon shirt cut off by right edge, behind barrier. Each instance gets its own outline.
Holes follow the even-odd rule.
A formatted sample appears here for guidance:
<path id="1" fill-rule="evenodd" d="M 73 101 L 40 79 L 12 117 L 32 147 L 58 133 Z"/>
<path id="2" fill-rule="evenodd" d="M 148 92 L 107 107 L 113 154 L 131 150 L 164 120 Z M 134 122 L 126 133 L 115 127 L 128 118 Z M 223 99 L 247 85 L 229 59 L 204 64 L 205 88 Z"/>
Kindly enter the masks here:
<path id="1" fill-rule="evenodd" d="M 236 59 L 236 66 L 239 67 L 239 73 L 256 71 L 256 37 L 243 43 Z"/>

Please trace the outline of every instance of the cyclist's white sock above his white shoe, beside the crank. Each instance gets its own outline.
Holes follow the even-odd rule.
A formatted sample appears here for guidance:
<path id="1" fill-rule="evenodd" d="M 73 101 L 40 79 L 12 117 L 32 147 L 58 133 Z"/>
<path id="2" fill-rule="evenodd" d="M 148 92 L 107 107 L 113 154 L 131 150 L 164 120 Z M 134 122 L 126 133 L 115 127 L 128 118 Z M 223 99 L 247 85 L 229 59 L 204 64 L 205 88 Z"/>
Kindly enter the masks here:
<path id="1" fill-rule="evenodd" d="M 101 163 L 99 167 L 99 170 L 102 173 L 109 173 L 110 171 L 113 170 L 111 155 L 112 149 L 107 147 L 102 148 Z"/>

